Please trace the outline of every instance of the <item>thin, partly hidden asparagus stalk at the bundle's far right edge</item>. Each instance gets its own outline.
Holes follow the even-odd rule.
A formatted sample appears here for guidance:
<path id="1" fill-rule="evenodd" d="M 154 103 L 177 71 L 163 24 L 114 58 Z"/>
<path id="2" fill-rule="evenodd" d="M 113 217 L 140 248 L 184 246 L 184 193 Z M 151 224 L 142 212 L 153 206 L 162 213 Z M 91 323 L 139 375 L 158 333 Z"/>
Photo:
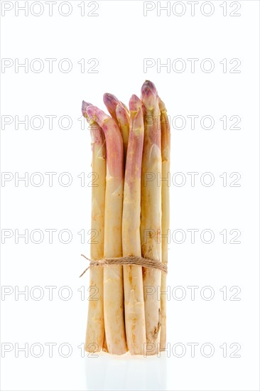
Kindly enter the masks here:
<path id="1" fill-rule="evenodd" d="M 159 99 L 159 107 L 161 110 L 161 156 L 162 156 L 162 178 L 167 178 L 170 173 L 170 123 L 166 106 Z M 162 182 L 162 262 L 168 264 L 168 230 L 170 227 L 170 187 L 168 181 Z M 166 292 L 166 273 L 161 276 L 161 291 Z M 161 350 L 166 348 L 166 293 L 161 294 Z"/>

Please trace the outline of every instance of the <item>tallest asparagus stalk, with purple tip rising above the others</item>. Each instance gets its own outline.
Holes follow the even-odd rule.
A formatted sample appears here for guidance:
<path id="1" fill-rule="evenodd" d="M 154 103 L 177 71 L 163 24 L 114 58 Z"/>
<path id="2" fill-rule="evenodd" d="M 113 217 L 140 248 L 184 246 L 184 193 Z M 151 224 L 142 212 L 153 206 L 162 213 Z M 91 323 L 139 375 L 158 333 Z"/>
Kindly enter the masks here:
<path id="1" fill-rule="evenodd" d="M 142 256 L 161 261 L 161 112 L 155 85 L 146 80 L 141 88 L 144 114 L 144 141 L 141 181 L 141 250 Z M 161 271 L 143 267 L 143 291 L 146 316 L 146 342 L 155 347 L 160 341 L 160 300 L 156 290 L 161 286 Z"/>

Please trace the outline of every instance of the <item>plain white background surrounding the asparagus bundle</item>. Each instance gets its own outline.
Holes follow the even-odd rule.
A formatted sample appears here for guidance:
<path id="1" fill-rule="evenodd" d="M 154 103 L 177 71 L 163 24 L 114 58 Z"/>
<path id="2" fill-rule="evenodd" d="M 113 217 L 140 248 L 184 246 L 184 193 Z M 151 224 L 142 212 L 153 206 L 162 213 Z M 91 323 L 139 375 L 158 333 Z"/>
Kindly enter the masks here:
<path id="1" fill-rule="evenodd" d="M 9 3 L 6 8 L 13 6 L 6 14 L 4 3 Z M 17 11 L 17 4 L 24 3 L 1 1 L 1 58 L 13 61 L 13 66 L 1 70 L 1 115 L 13 119 L 1 132 L 1 171 L 11 173 L 9 178 L 13 176 L 11 181 L 1 183 L 2 242 L 3 232 L 13 232 L 1 250 L 2 289 L 10 293 L 1 296 L 1 343 L 2 356 L 5 355 L 1 358 L 2 390 L 259 390 L 259 2 L 231 5 L 229 1 L 211 1 L 212 5 L 201 9 L 200 1 L 192 16 L 191 6 L 183 1 L 184 6 L 170 9 L 170 16 L 166 11 L 158 16 L 156 8 L 143 16 L 143 1 L 97 1 L 94 13 L 98 16 L 87 16 L 94 6 L 86 1 L 85 16 L 81 16 L 82 1 L 70 1 L 71 14 L 63 16 L 58 11 L 58 0 L 53 5 L 53 16 L 49 16 L 48 4 L 42 1 L 43 14 L 38 17 L 32 14 L 40 12 L 37 4 L 32 12 L 29 9 L 28 16 Z M 170 6 L 174 3 L 171 1 Z M 237 4 L 241 8 L 236 12 L 241 15 L 230 16 Z M 161 5 L 165 6 L 166 1 Z M 223 16 L 225 5 L 227 16 Z M 181 12 L 180 6 L 185 7 L 183 16 L 176 16 Z M 208 7 L 212 6 L 212 15 L 203 15 L 209 14 Z M 67 13 L 66 5 L 62 12 Z M 28 73 L 24 68 L 16 70 L 15 61 L 24 63 L 26 58 Z M 35 58 L 43 62 L 40 73 L 35 72 L 39 63 L 35 63 L 35 69 L 30 68 Z M 57 59 L 53 73 L 45 58 Z M 72 63 L 69 73 L 58 68 L 63 58 Z M 84 73 L 77 63 L 82 58 Z M 98 73 L 87 73 L 94 65 L 87 64 L 91 58 L 99 62 L 95 68 Z M 160 60 L 166 63 L 168 58 L 170 65 L 181 58 L 186 69 L 178 73 L 173 66 L 167 73 L 166 68 L 157 69 L 155 65 L 145 73 L 144 58 L 153 58 L 156 64 Z M 198 59 L 194 73 L 188 58 Z M 215 65 L 210 73 L 200 68 L 205 58 Z M 224 58 L 226 73 L 220 63 Z M 234 58 L 241 61 L 237 68 L 240 73 L 230 73 L 236 63 L 229 61 Z M 178 115 L 186 119 L 183 129 L 172 127 L 170 230 L 183 230 L 186 238 L 178 244 L 177 235 L 169 245 L 170 351 L 161 358 L 112 357 L 104 353 L 82 358 L 78 346 L 85 340 L 88 276 L 78 276 L 87 267 L 80 254 L 90 255 L 87 232 L 91 187 L 87 184 L 91 178 L 87 175 L 91 172 L 91 141 L 87 126 L 81 129 L 82 122 L 78 120 L 81 102 L 84 99 L 104 109 L 102 95 L 112 92 L 128 103 L 131 94 L 139 95 L 146 79 L 156 84 L 170 119 Z M 29 123 L 28 129 L 24 124 L 15 124 L 15 116 L 17 122 L 26 115 L 29 121 L 36 115 L 43 117 L 42 129 L 33 129 L 38 126 L 37 120 L 33 126 Z M 57 116 L 53 129 L 45 117 L 48 115 Z M 58 124 L 64 115 L 72 121 L 67 130 L 62 129 L 67 126 L 65 120 L 62 127 Z M 199 116 L 195 129 L 191 129 L 188 115 Z M 214 119 L 212 129 L 201 127 L 200 119 L 205 115 Z M 227 129 L 220 121 L 224 115 Z M 233 115 L 240 117 L 237 127 L 241 129 L 229 129 L 235 122 L 229 121 Z M 6 118 L 2 117 L 2 121 L 6 122 Z M 176 124 L 175 128 L 180 127 L 180 122 Z M 26 172 L 28 186 L 24 181 L 18 181 L 16 186 L 15 175 L 24 176 Z M 30 182 L 31 174 L 36 172 L 44 178 L 39 187 L 33 179 Z M 57 173 L 53 186 L 49 186 L 46 172 Z M 58 182 L 64 172 L 70 173 L 71 186 Z M 181 177 L 175 173 L 180 172 L 186 182 L 176 186 Z M 198 173 L 195 186 L 191 186 L 188 172 Z M 205 172 L 214 176 L 212 186 L 201 183 Z M 85 186 L 80 186 L 80 173 L 85 173 Z M 227 186 L 223 186 L 220 177 L 223 173 L 227 173 Z M 232 173 L 241 175 L 237 181 L 240 186 L 230 186 L 237 178 L 229 178 Z M 35 182 L 39 179 L 34 178 Z M 65 183 L 67 178 L 63 176 L 63 180 Z M 208 180 L 209 176 L 205 177 L 205 182 Z M 187 231 L 193 228 L 199 230 L 194 244 Z M 31 231 L 36 229 L 44 235 L 39 244 L 33 242 L 38 240 L 37 234 L 30 239 Z M 49 243 L 46 229 L 57 230 L 53 244 Z M 200 238 L 206 229 L 215 235 L 210 244 Z M 224 229 L 226 244 L 220 234 Z M 15 230 L 28 230 L 28 244 L 15 235 Z M 58 240 L 61 230 L 70 230 L 70 243 Z M 77 233 L 81 230 L 85 230 L 85 243 Z M 230 243 L 235 236 L 229 233 L 231 230 L 241 232 L 237 239 L 240 244 Z M 67 240 L 65 234 L 63 240 Z M 25 286 L 28 300 L 22 294 L 15 296 L 15 291 Z M 35 299 L 40 291 L 31 291 L 33 286 L 41 287 L 42 299 Z M 45 286 L 57 287 L 52 301 Z M 63 299 L 67 294 L 63 289 L 59 297 L 63 286 L 70 287 L 70 300 Z M 82 289 L 77 290 L 82 286 L 85 300 L 81 300 Z M 194 300 L 188 286 L 198 286 Z M 204 286 L 213 289 L 212 300 L 203 299 Z M 223 286 L 227 286 L 227 300 L 220 291 Z M 230 300 L 238 291 L 229 291 L 232 286 L 241 291 Z M 178 300 L 182 292 L 186 296 Z M 204 294 L 208 296 L 210 291 Z M 3 343 L 9 343 L 11 351 L 4 354 Z M 28 358 L 17 350 L 26 343 Z M 37 347 L 33 353 L 30 351 L 33 343 L 43 346 L 39 358 L 34 357 L 39 352 Z M 45 343 L 57 344 L 52 358 Z M 68 358 L 58 352 L 62 343 L 72 348 Z M 176 343 L 183 345 L 174 350 Z M 195 357 L 188 343 L 199 344 Z M 212 357 L 205 357 L 207 348 L 205 355 L 201 353 L 204 343 L 214 347 Z M 220 348 L 224 343 L 225 358 Z M 240 357 L 230 357 L 238 346 L 232 343 L 241 346 L 237 352 Z M 186 351 L 178 357 L 181 346 Z M 64 348 L 63 355 L 66 353 Z"/>

